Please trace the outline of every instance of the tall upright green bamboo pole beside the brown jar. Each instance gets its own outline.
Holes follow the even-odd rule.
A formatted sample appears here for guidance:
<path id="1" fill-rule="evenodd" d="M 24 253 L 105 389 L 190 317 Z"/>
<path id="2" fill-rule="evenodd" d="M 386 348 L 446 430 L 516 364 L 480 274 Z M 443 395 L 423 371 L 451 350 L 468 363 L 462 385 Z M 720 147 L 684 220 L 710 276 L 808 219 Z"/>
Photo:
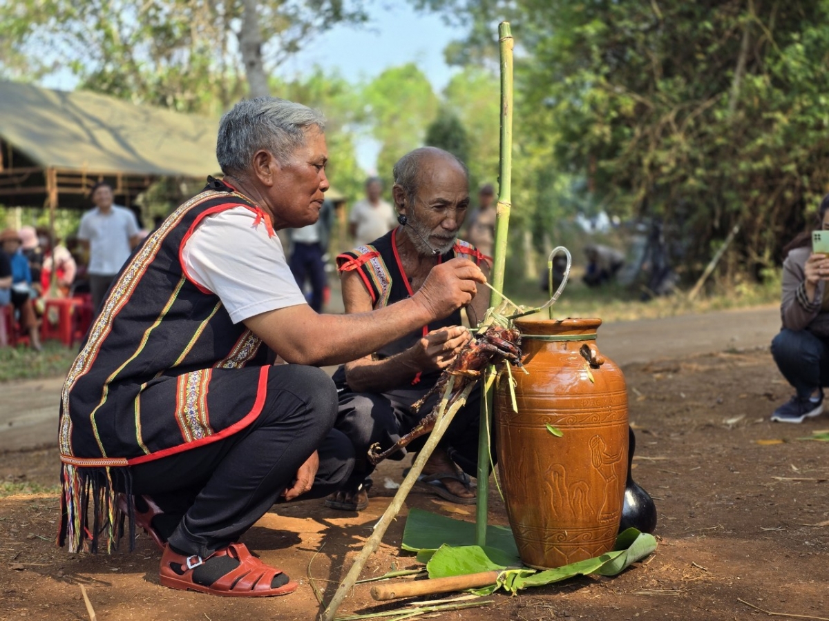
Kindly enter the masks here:
<path id="1" fill-rule="evenodd" d="M 507 262 L 507 231 L 510 225 L 512 192 L 512 34 L 510 22 L 498 24 L 498 45 L 501 49 L 501 166 L 498 171 L 498 203 L 495 224 L 495 252 L 492 258 L 492 294 L 489 306 L 501 302 L 504 288 L 504 266 Z M 487 374 L 492 373 L 492 368 Z M 487 544 L 487 502 L 489 500 L 489 418 L 492 412 L 492 388 L 481 395 L 481 424 L 478 430 L 478 505 L 475 509 L 475 543 Z M 486 409 L 485 409 L 486 408 Z"/>

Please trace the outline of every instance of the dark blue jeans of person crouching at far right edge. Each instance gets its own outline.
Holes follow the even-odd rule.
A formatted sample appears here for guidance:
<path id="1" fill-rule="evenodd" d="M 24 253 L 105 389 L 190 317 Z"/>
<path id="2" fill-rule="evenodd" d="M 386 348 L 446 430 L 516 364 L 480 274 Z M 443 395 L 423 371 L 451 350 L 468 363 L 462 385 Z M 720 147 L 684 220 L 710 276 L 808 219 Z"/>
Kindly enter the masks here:
<path id="1" fill-rule="evenodd" d="M 829 386 L 829 339 L 783 328 L 772 340 L 772 357 L 797 397 L 807 399 L 816 388 Z"/>

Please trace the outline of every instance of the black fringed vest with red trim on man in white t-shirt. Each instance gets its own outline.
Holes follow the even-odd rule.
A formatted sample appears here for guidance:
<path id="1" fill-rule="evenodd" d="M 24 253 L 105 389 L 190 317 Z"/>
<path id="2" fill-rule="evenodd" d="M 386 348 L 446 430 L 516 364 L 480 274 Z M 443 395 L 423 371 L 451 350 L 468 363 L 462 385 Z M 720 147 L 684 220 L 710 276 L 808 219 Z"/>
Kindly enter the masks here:
<path id="1" fill-rule="evenodd" d="M 68 539 L 72 551 L 84 539 L 95 550 L 99 529 L 108 531 L 109 547 L 117 538 L 113 477 L 115 487 L 128 487 L 123 466 L 221 440 L 259 416 L 268 349 L 191 281 L 181 258 L 202 219 L 239 206 L 274 234 L 262 209 L 209 178 L 133 252 L 70 368 L 61 396 L 60 542 Z"/>

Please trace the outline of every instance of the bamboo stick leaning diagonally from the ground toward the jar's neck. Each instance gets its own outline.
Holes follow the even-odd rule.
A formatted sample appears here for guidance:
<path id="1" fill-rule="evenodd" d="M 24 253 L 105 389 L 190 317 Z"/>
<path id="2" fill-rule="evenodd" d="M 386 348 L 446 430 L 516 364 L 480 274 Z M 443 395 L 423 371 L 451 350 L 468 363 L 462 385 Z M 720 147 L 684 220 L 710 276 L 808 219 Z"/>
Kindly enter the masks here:
<path id="1" fill-rule="evenodd" d="M 340 604 L 342 604 L 342 600 L 346 599 L 347 595 L 351 592 L 351 589 L 354 588 L 357 578 L 360 577 L 360 572 L 363 567 L 366 566 L 366 561 L 368 561 L 369 556 L 371 556 L 376 551 L 377 547 L 380 546 L 380 542 L 383 539 L 383 535 L 385 535 L 385 531 L 390 526 L 392 520 L 397 517 L 397 513 L 400 512 L 400 508 L 403 506 L 406 496 L 409 495 L 410 490 L 414 487 L 414 483 L 423 471 L 426 461 L 429 460 L 429 457 L 432 455 L 434 447 L 437 446 L 438 442 L 444 437 L 446 428 L 449 426 L 449 423 L 452 422 L 455 413 L 463 407 L 464 403 L 466 403 L 469 393 L 472 392 L 474 386 L 475 383 L 471 382 L 466 386 L 466 388 L 463 388 L 463 392 L 461 392 L 457 401 L 455 401 L 452 404 L 452 407 L 449 407 L 444 415 L 440 416 L 438 421 L 435 423 L 434 429 L 429 434 L 429 439 L 426 440 L 424 447 L 418 451 L 417 457 L 414 459 L 414 463 L 412 464 L 409 474 L 407 474 L 405 479 L 403 479 L 403 483 L 400 484 L 400 488 L 397 490 L 397 493 L 395 493 L 395 498 L 391 499 L 391 504 L 385 509 L 385 513 L 383 513 L 383 517 L 380 518 L 380 521 L 375 524 L 374 532 L 371 533 L 371 537 L 368 538 L 366 544 L 363 546 L 360 556 L 356 557 L 356 560 L 351 566 L 351 569 L 348 570 L 345 579 L 342 580 L 340 585 L 337 587 L 337 592 L 334 594 L 331 603 L 328 604 L 327 609 L 325 609 L 320 615 L 320 619 L 322 619 L 322 621 L 333 621 L 334 616 L 337 614 L 337 609 L 340 607 Z M 446 398 L 445 395 L 448 395 L 452 391 L 452 388 L 453 386 L 450 380 L 448 390 L 444 393 L 444 399 Z"/>

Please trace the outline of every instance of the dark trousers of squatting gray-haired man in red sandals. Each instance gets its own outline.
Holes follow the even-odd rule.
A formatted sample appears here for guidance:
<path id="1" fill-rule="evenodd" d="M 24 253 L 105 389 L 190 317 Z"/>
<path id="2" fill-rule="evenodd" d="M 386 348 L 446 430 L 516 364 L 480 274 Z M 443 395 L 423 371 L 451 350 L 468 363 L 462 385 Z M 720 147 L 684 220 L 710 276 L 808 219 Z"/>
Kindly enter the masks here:
<path id="1" fill-rule="evenodd" d="M 232 436 L 131 468 L 133 493 L 182 516 L 169 538 L 178 551 L 205 558 L 235 542 L 293 485 L 314 450 L 319 469 L 310 492 L 322 498 L 342 487 L 354 450 L 333 430 L 337 391 L 318 368 L 270 369 L 268 393 L 256 420 Z"/>

